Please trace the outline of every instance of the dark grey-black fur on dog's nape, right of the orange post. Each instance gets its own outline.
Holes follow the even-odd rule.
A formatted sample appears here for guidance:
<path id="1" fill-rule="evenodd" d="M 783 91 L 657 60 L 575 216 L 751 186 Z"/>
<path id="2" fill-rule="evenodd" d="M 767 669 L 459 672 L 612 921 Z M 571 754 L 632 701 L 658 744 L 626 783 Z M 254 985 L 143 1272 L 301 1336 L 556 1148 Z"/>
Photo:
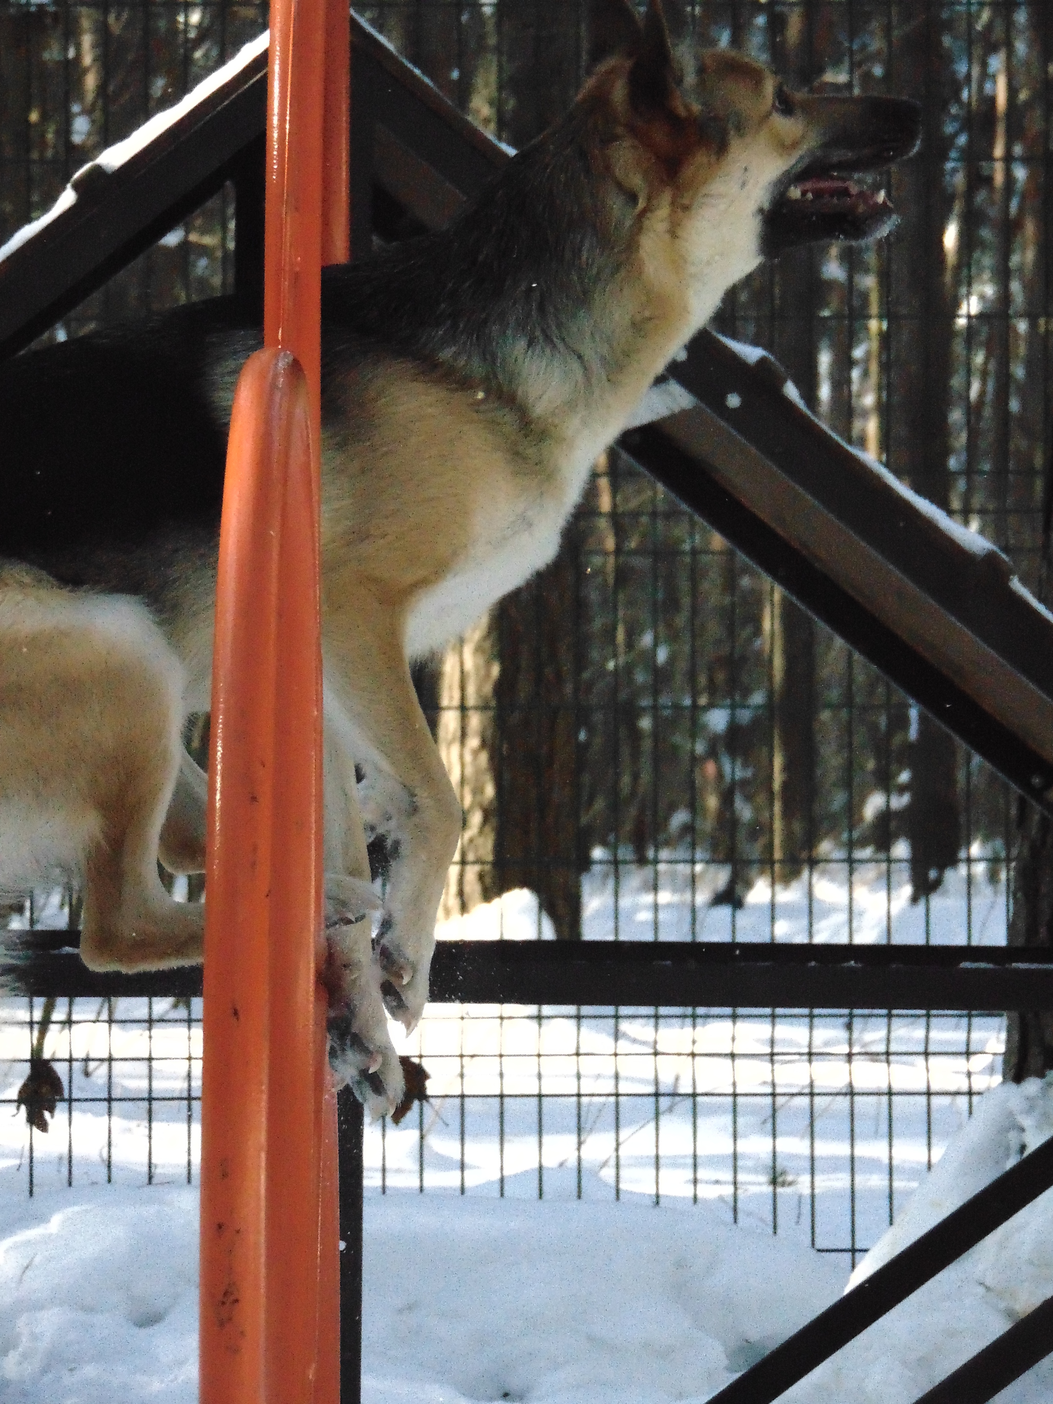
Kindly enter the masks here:
<path id="1" fill-rule="evenodd" d="M 594 168 L 595 124 L 571 108 L 448 229 L 326 270 L 329 354 L 347 331 L 505 393 L 526 358 L 600 373 L 597 300 L 625 264 L 635 206 Z"/>

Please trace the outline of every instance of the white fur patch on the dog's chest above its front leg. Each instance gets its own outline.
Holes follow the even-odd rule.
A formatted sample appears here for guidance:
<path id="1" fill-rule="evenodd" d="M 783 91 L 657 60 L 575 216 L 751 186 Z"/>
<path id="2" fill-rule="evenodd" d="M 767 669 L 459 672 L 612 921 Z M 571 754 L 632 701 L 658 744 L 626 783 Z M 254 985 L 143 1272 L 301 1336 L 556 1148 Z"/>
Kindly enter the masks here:
<path id="1" fill-rule="evenodd" d="M 545 482 L 507 480 L 477 494 L 466 548 L 435 584 L 413 601 L 406 651 L 420 657 L 462 635 L 510 590 L 559 550 L 563 526 L 588 476 L 573 463 Z"/>

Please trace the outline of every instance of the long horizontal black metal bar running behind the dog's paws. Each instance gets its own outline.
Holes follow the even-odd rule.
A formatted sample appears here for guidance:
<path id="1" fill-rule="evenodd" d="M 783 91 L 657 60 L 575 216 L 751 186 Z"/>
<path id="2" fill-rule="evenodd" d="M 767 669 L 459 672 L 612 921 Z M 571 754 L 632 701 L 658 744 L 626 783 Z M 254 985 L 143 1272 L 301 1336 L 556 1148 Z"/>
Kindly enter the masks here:
<path id="1" fill-rule="evenodd" d="M 46 998 L 188 998 L 201 967 L 102 974 L 77 931 L 8 942 L 0 987 Z M 778 945 L 727 941 L 441 941 L 434 1004 L 656 1008 L 1053 1009 L 1053 951 L 1007 946 Z"/>

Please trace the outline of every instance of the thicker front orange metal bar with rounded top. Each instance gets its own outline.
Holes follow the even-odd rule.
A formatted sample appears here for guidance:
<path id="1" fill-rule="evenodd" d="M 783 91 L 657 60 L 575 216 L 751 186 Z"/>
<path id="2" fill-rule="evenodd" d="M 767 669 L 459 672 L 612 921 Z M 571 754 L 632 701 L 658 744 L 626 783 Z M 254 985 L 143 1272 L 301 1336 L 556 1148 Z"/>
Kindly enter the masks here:
<path id="1" fill-rule="evenodd" d="M 322 892 L 310 418 L 295 358 L 274 348 L 251 357 L 230 424 L 216 588 L 201 1404 L 310 1400 L 317 1254 L 303 1214 L 307 1224 L 316 1221 L 310 1032 Z M 284 1243 L 277 1233 L 282 1220 Z M 281 1351 L 275 1330 L 284 1337 Z M 306 1349 L 299 1348 L 303 1339 Z"/>

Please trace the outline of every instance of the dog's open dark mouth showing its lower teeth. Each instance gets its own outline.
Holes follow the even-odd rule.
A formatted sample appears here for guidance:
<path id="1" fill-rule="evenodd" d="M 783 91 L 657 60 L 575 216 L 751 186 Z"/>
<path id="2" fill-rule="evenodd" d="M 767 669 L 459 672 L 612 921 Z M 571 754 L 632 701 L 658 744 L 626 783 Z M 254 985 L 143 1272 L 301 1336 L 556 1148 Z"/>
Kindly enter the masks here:
<path id="1" fill-rule="evenodd" d="M 866 190 L 847 176 L 800 173 L 764 216 L 765 253 L 795 244 L 862 243 L 882 239 L 896 223 L 883 190 Z"/>

